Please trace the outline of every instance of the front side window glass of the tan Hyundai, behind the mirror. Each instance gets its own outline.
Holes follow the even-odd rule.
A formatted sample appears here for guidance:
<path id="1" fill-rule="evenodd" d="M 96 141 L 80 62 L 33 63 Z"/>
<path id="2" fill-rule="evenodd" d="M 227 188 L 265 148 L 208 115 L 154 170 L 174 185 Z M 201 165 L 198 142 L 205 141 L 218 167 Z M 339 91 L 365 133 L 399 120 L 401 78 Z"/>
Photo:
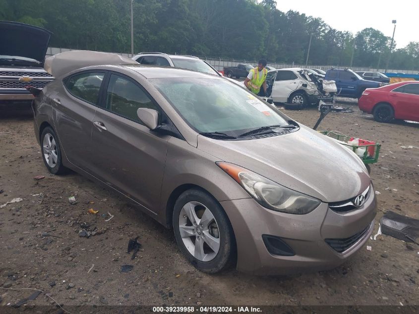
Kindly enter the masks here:
<path id="1" fill-rule="evenodd" d="M 112 74 L 106 92 L 106 109 L 143 125 L 137 116 L 138 108 L 158 110 L 141 87 Z"/>

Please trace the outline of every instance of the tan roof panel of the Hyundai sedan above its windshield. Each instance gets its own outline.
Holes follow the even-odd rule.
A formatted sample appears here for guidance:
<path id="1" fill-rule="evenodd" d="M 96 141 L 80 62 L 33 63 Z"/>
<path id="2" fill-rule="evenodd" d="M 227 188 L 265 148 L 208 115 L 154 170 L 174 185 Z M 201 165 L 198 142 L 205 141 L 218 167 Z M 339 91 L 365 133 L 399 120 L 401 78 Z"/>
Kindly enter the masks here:
<path id="1" fill-rule="evenodd" d="M 118 66 L 118 65 L 116 65 Z M 160 65 L 143 65 L 143 64 L 121 64 L 125 68 L 129 68 L 145 78 L 171 78 L 171 77 L 189 77 L 189 78 L 215 78 L 222 79 L 214 74 L 206 74 L 203 72 L 192 71 L 174 66 Z"/>

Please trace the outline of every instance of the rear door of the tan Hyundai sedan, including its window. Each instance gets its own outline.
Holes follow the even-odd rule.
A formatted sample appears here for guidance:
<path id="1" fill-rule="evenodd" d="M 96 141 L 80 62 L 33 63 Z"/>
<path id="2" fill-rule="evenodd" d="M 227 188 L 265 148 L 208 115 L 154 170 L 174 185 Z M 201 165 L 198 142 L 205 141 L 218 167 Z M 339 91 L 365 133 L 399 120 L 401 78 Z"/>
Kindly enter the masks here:
<path id="1" fill-rule="evenodd" d="M 53 98 L 53 117 L 61 147 L 68 161 L 90 169 L 90 141 L 105 71 L 85 71 L 63 80 L 63 90 Z"/>

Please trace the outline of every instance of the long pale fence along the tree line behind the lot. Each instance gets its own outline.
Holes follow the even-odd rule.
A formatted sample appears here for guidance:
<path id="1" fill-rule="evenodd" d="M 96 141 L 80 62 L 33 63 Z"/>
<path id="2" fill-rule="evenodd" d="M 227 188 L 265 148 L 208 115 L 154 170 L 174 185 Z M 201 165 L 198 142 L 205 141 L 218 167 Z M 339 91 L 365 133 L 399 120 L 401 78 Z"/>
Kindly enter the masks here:
<path id="1" fill-rule="evenodd" d="M 65 48 L 48 48 L 47 50 L 47 57 L 53 56 L 53 55 L 57 55 L 60 54 L 62 52 L 65 51 L 71 51 L 71 50 L 75 50 L 75 49 L 65 49 Z M 131 58 L 133 55 L 131 54 L 122 54 L 122 53 L 116 53 L 118 55 L 124 56 L 124 57 L 128 57 Z M 257 65 L 257 60 L 234 60 L 234 59 L 221 59 L 221 58 L 207 58 L 207 57 L 202 57 L 202 56 L 198 56 L 199 58 L 201 58 L 202 60 L 205 60 L 206 62 L 208 62 L 209 64 L 211 64 L 212 66 L 214 66 L 217 70 L 222 71 L 223 68 L 225 66 L 237 66 L 239 63 L 248 63 L 251 65 L 256 66 Z M 289 68 L 289 67 L 305 67 L 304 64 L 299 64 L 299 63 L 271 63 L 268 62 L 269 66 L 273 66 L 275 68 Z M 345 68 L 348 66 L 336 66 L 333 65 L 335 67 L 339 67 L 339 68 Z M 332 67 L 332 65 L 309 65 L 309 68 L 319 68 L 319 69 L 329 69 Z M 357 67 L 357 66 L 353 66 L 352 70 L 354 71 L 377 71 L 377 68 L 369 68 L 369 67 Z M 378 72 L 384 72 L 385 69 L 378 69 Z M 406 74 L 416 74 L 418 73 L 418 71 L 415 70 L 395 70 L 395 69 L 389 69 L 387 70 L 388 72 L 394 72 L 394 73 L 406 73 Z"/>

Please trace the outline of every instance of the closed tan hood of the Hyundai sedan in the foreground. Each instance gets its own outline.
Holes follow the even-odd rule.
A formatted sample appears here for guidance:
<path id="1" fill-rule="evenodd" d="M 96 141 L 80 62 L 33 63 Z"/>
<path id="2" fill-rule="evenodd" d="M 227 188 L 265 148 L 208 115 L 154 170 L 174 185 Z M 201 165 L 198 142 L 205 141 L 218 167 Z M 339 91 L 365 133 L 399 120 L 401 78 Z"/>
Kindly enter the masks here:
<path id="1" fill-rule="evenodd" d="M 350 199 L 371 182 L 355 153 L 306 126 L 285 135 L 239 141 L 199 135 L 197 148 L 324 202 Z"/>

